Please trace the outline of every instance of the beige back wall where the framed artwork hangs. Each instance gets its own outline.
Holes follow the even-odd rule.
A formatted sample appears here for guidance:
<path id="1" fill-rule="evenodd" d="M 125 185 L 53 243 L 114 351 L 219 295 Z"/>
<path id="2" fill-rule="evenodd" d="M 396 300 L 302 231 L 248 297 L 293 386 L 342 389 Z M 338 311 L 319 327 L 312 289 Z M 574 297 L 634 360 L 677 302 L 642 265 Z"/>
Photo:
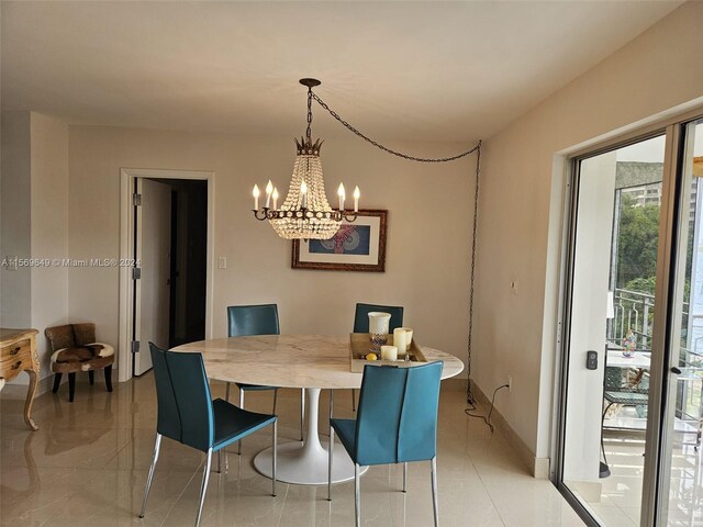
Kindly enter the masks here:
<path id="1" fill-rule="evenodd" d="M 301 123 L 302 125 L 302 123 Z M 292 270 L 291 244 L 254 220 L 250 190 L 271 178 L 287 188 L 290 137 L 70 126 L 70 255 L 119 255 L 120 169 L 215 172 L 213 335 L 226 335 L 225 307 L 276 302 L 284 333 L 346 333 L 356 302 L 405 306 L 421 343 L 466 356 L 469 236 L 475 158 L 421 165 L 377 152 L 356 138 L 328 138 L 322 148 L 328 198 L 339 181 L 361 188 L 364 208 L 388 209 L 387 272 Z M 402 143 L 427 156 L 467 145 Z M 92 319 L 101 339 L 118 341 L 118 269 L 70 269 L 69 312 Z"/>

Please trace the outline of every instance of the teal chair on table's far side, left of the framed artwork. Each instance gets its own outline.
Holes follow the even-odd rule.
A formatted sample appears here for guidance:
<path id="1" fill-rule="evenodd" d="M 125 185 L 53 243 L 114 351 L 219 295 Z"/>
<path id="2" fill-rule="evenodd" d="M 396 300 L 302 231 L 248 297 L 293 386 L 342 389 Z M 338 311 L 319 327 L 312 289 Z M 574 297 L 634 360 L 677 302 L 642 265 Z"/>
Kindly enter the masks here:
<path id="1" fill-rule="evenodd" d="M 246 337 L 250 335 L 280 335 L 278 324 L 278 306 L 276 304 L 261 305 L 231 305 L 227 307 L 227 335 L 230 337 Z M 244 408 L 245 392 L 274 390 L 274 414 L 278 401 L 277 386 L 261 386 L 258 384 L 236 383 L 239 389 L 239 407 Z M 225 399 L 230 401 L 230 383 L 227 382 Z M 303 440 L 303 423 L 305 421 L 305 392 L 300 401 L 300 440 Z M 242 444 L 237 448 L 242 453 Z"/>

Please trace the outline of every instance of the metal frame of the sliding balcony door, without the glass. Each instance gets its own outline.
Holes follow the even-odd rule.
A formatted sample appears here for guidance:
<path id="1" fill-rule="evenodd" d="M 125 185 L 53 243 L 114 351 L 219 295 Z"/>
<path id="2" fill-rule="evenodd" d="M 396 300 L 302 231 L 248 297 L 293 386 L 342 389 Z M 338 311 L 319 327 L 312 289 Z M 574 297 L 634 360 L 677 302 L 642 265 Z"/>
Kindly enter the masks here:
<path id="1" fill-rule="evenodd" d="M 669 426 L 667 419 L 667 408 L 669 401 L 667 399 L 667 390 L 670 380 L 670 335 L 671 335 L 671 306 L 669 287 L 672 283 L 673 271 L 671 268 L 672 258 L 676 253 L 676 231 L 674 223 L 678 217 L 678 202 L 680 197 L 680 167 L 678 165 L 678 153 L 681 142 L 681 126 L 684 123 L 700 119 L 703 116 L 703 106 L 700 101 L 693 104 L 684 104 L 679 109 L 672 109 L 658 116 L 645 120 L 644 122 L 634 123 L 631 126 L 622 128 L 604 138 L 579 145 L 572 149 L 557 153 L 563 156 L 566 161 L 562 168 L 555 171 L 555 178 L 562 181 L 562 210 L 561 210 L 561 231 L 559 238 L 561 242 L 559 258 L 559 273 L 556 277 L 558 281 L 558 306 L 555 310 L 555 319 L 557 322 L 557 334 L 555 335 L 554 347 L 554 379 L 555 390 L 553 392 L 553 410 L 556 423 L 553 422 L 553 441 L 550 445 L 550 453 L 554 463 L 554 471 L 550 474 L 553 483 L 561 492 L 563 497 L 569 502 L 573 509 L 579 514 L 587 525 L 598 525 L 595 519 L 589 514 L 585 507 L 580 503 L 571 490 L 563 484 L 563 426 L 566 415 L 563 408 L 568 390 L 567 368 L 569 361 L 568 337 L 570 330 L 570 280 L 573 266 L 573 255 L 571 254 L 571 244 L 573 237 L 574 218 L 578 214 L 578 167 L 577 162 L 587 157 L 596 156 L 604 152 L 620 148 L 628 144 L 651 137 L 657 133 L 665 135 L 667 143 L 665 150 L 663 178 L 662 178 L 662 197 L 659 221 L 659 247 L 657 259 L 660 264 L 657 267 L 657 287 L 656 298 L 658 299 L 658 307 L 655 312 L 655 328 L 652 335 L 652 355 L 650 366 L 650 385 L 648 405 L 651 411 L 648 413 L 646 444 L 648 445 L 645 452 L 645 466 L 643 473 L 643 500 L 640 511 L 640 525 L 654 526 L 658 525 L 666 515 L 667 504 L 665 496 L 668 493 L 668 482 L 665 481 L 670 470 L 670 459 L 667 459 L 671 448 L 671 434 L 667 429 Z M 672 155 L 673 154 L 673 155 Z M 656 350 L 656 352 L 654 351 Z M 676 381 L 673 381 L 676 382 Z"/>

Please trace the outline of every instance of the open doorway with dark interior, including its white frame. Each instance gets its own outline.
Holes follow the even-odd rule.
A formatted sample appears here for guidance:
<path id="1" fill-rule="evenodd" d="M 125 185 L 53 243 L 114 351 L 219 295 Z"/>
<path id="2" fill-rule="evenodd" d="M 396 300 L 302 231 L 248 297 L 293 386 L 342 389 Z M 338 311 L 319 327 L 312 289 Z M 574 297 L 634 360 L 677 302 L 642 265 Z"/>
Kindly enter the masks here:
<path id="1" fill-rule="evenodd" d="M 122 169 L 120 382 L 150 368 L 148 343 L 212 335 L 214 173 Z M 137 204 L 138 203 L 138 204 Z"/>

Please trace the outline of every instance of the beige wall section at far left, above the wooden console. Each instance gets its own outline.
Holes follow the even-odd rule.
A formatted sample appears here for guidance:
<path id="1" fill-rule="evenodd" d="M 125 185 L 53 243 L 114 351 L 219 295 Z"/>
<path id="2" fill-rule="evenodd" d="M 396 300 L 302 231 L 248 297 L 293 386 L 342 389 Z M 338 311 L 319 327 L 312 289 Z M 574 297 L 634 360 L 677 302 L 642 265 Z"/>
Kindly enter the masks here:
<path id="1" fill-rule="evenodd" d="M 48 259 L 51 265 L 2 269 L 3 327 L 40 330 L 41 378 L 49 377 L 44 328 L 68 316 L 68 125 L 34 112 L 3 112 L 2 258 Z M 27 375 L 13 383 L 26 384 Z"/>

